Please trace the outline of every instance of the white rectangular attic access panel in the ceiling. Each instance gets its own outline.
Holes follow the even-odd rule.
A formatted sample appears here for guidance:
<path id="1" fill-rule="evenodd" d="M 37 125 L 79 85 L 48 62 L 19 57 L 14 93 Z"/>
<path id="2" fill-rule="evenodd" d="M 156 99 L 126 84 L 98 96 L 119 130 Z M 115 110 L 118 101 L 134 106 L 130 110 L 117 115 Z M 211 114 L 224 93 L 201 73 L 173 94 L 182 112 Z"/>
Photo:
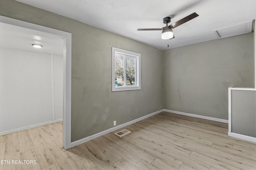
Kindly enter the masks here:
<path id="1" fill-rule="evenodd" d="M 218 39 L 250 33 L 253 31 L 253 22 L 254 21 L 252 20 L 244 23 L 239 23 L 236 25 L 231 25 L 229 27 L 213 30 L 213 32 L 218 37 Z"/>

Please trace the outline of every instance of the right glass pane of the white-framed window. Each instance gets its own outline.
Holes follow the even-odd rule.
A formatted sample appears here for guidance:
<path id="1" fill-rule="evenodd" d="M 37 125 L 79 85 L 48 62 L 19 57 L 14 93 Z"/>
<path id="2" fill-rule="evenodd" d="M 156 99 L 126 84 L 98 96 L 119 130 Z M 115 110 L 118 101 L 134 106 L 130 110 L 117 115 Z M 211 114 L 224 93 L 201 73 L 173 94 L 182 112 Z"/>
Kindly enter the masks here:
<path id="1" fill-rule="evenodd" d="M 126 57 L 126 85 L 135 85 L 135 61 L 134 57 Z"/>

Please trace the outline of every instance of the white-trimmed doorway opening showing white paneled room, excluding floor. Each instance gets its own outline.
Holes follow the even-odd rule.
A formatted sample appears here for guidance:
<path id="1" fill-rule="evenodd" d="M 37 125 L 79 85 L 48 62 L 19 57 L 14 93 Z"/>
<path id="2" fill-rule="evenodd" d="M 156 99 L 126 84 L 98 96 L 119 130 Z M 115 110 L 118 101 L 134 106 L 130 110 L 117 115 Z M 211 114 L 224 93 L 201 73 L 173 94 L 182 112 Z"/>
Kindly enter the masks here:
<path id="1" fill-rule="evenodd" d="M 2 62 L 1 69 L 6 68 L 6 72 L 2 71 L 0 89 L 4 94 L 0 100 L 5 102 L 0 106 L 0 117 L 6 123 L 1 123 L 0 135 L 63 120 L 63 147 L 68 149 L 71 143 L 71 33 L 4 16 L 0 16 L 0 30 L 0 54 L 6 61 Z M 36 49 L 32 44 L 42 48 Z M 15 62 L 17 59 L 19 62 Z M 38 115 L 34 115 L 35 112 Z"/>

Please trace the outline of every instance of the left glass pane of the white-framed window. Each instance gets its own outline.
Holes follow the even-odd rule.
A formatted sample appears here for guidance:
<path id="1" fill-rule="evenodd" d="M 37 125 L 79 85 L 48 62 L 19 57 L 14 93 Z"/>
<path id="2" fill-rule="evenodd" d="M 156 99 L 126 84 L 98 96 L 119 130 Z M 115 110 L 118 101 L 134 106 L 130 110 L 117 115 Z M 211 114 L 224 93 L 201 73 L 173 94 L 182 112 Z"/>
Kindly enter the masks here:
<path id="1" fill-rule="evenodd" d="M 115 54 L 115 86 L 124 84 L 124 55 Z"/>

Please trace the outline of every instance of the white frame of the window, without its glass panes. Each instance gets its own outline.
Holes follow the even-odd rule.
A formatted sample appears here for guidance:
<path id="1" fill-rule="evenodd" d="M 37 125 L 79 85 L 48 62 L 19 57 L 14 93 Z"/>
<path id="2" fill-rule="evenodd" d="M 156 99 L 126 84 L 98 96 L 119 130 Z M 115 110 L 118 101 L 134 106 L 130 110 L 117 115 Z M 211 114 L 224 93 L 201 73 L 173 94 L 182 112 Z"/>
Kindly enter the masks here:
<path id="1" fill-rule="evenodd" d="M 115 86 L 115 54 L 116 53 L 124 54 L 127 57 L 133 57 L 136 59 L 136 62 L 135 62 L 135 74 L 136 74 L 135 85 Z M 125 60 L 125 62 L 126 62 L 126 60 Z M 125 82 L 126 82 L 126 78 L 124 80 L 124 83 Z M 112 47 L 112 92 L 125 91 L 125 90 L 140 90 L 140 53 L 135 53 L 132 51 L 127 51 L 127 50 Z"/>

